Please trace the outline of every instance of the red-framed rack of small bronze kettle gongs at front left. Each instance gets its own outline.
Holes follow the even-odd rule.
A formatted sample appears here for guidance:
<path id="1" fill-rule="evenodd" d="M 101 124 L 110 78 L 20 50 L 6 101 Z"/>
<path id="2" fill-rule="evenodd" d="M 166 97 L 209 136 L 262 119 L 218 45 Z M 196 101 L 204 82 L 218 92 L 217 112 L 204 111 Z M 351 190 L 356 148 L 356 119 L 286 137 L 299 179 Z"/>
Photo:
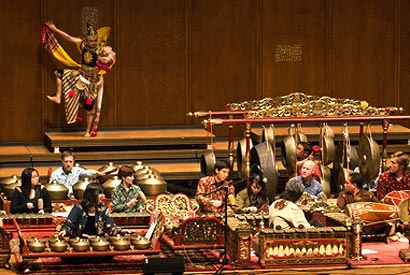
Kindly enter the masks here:
<path id="1" fill-rule="evenodd" d="M 18 257 L 16 257 L 16 259 L 18 259 L 16 261 L 16 267 L 19 270 L 30 268 L 32 266 L 32 263 L 35 263 L 36 260 L 40 258 L 58 257 L 84 259 L 90 257 L 95 258 L 137 255 L 142 261 L 146 255 L 158 255 L 161 251 L 160 242 L 158 241 L 164 230 L 163 217 L 161 215 L 156 217 L 154 220 L 154 224 L 156 226 L 152 228 L 153 230 L 151 238 L 149 239 L 149 243 L 146 247 L 141 248 L 138 244 L 133 242 L 133 239 L 140 240 L 141 238 L 143 238 L 142 236 L 145 235 L 147 229 L 131 229 L 127 230 L 127 234 L 125 236 L 111 236 L 109 240 L 106 240 L 102 237 L 101 241 L 107 242 L 107 246 L 104 248 L 104 250 L 97 249 L 92 243 L 91 239 L 79 239 L 78 241 L 85 241 L 86 245 L 81 249 L 77 249 L 76 244 L 80 242 L 71 242 L 72 239 L 68 239 L 67 237 L 63 238 L 62 240 L 56 237 L 55 225 L 53 222 L 50 223 L 50 221 L 53 220 L 53 216 L 51 214 L 43 215 L 45 217 L 37 216 L 38 215 L 36 215 L 35 218 L 30 217 L 29 219 L 30 221 L 34 221 L 33 223 L 35 224 L 35 226 L 29 227 L 31 229 L 30 231 L 23 231 L 17 222 L 17 220 L 19 220 L 23 221 L 23 224 L 24 222 L 27 223 L 28 217 L 21 216 L 16 218 L 15 216 L 9 216 L 5 219 L 7 227 L 11 225 L 10 222 L 13 222 L 14 228 L 17 231 L 16 235 L 19 239 L 19 249 L 17 252 Z M 39 234 L 38 229 L 41 227 L 48 228 L 48 231 L 45 230 L 44 232 Z M 27 225 L 24 224 L 22 228 L 27 229 Z M 49 231 L 51 228 L 53 228 L 52 233 L 50 233 Z M 118 238 L 118 241 L 121 241 L 122 243 L 116 244 L 116 238 Z M 4 240 L 5 238 L 3 237 L 3 241 Z M 53 244 L 55 244 L 56 241 L 61 241 L 61 244 L 65 245 L 63 250 L 54 249 Z M 100 244 L 102 244 L 102 242 Z"/>

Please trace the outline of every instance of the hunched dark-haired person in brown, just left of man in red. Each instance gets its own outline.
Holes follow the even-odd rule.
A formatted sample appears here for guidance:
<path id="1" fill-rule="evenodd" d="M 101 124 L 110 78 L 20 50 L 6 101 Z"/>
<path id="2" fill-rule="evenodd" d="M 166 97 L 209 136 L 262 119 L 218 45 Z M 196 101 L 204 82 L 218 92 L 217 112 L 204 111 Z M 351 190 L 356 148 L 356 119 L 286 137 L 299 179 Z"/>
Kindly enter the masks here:
<path id="1" fill-rule="evenodd" d="M 344 190 L 337 198 L 337 206 L 344 210 L 347 204 L 355 202 L 379 202 L 372 192 L 363 189 L 363 177 L 357 172 L 347 177 Z"/>

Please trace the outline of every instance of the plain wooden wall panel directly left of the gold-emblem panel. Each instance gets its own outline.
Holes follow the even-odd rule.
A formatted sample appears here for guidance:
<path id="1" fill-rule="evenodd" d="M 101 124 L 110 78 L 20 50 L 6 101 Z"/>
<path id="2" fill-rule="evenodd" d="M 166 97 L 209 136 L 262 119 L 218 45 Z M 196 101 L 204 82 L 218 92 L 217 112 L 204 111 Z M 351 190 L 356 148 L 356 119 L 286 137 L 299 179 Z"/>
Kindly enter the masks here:
<path id="1" fill-rule="evenodd" d="M 253 0 L 192 1 L 192 110 L 225 110 L 257 95 Z"/>

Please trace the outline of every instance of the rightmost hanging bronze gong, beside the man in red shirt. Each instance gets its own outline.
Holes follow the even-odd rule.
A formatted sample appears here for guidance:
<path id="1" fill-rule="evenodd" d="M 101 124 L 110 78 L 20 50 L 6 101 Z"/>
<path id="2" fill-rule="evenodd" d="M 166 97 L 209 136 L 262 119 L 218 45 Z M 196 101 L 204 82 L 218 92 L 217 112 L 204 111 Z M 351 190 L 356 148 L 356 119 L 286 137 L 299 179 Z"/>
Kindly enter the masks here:
<path id="1" fill-rule="evenodd" d="M 371 136 L 363 136 L 359 140 L 359 168 L 363 176 L 363 184 L 374 180 L 380 170 L 380 148 Z"/>

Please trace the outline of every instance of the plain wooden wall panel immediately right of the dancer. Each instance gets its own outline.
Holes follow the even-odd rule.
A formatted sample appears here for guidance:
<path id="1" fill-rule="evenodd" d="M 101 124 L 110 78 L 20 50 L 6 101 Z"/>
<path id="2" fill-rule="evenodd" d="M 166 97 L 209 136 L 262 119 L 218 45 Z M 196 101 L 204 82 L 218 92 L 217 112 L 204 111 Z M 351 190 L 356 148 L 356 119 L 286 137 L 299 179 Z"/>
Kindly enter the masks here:
<path id="1" fill-rule="evenodd" d="M 185 5 L 121 1 L 119 126 L 185 123 Z"/>

